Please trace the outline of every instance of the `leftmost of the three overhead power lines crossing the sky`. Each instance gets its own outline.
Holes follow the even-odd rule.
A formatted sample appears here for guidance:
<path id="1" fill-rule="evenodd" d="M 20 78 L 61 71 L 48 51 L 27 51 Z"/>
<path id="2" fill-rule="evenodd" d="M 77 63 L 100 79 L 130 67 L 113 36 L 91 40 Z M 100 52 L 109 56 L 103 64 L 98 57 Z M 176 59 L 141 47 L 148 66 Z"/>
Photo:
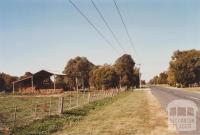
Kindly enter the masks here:
<path id="1" fill-rule="evenodd" d="M 90 19 L 76 6 L 75 3 L 73 3 L 71 0 L 69 2 L 72 4 L 72 6 L 83 16 L 83 18 L 96 30 L 96 32 L 111 46 L 113 50 L 115 50 L 117 53 L 118 50 L 111 44 L 111 42 L 106 38 L 106 36 L 103 35 L 103 33 L 90 21 Z"/>

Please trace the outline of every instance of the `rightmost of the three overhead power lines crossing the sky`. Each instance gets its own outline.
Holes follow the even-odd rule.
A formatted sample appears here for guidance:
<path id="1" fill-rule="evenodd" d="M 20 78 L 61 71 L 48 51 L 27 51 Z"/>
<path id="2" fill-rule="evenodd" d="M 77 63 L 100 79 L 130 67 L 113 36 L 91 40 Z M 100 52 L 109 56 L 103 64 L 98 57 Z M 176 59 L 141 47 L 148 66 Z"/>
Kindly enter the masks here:
<path id="1" fill-rule="evenodd" d="M 119 6 L 118 6 L 116 0 L 113 0 L 113 2 L 114 2 L 115 7 L 116 7 L 116 9 L 117 9 L 117 13 L 118 13 L 119 16 L 120 16 L 120 19 L 121 19 L 121 21 L 122 21 L 122 24 L 123 24 L 124 29 L 125 29 L 125 31 L 126 31 L 126 34 L 127 34 L 127 36 L 128 36 L 129 42 L 130 42 L 130 44 L 131 44 L 133 50 L 135 51 L 135 53 L 137 53 L 137 51 L 136 51 L 136 49 L 135 49 L 135 46 L 134 46 L 134 44 L 133 44 L 133 40 L 132 40 L 132 38 L 131 38 L 131 36 L 130 36 L 130 34 L 129 34 L 129 31 L 128 31 L 128 29 L 127 29 L 127 26 L 126 26 L 126 24 L 125 24 L 125 22 L 124 22 L 124 19 L 123 19 L 123 17 L 122 17 L 122 14 L 121 14 L 121 11 L 120 11 L 120 9 L 119 9 Z"/>

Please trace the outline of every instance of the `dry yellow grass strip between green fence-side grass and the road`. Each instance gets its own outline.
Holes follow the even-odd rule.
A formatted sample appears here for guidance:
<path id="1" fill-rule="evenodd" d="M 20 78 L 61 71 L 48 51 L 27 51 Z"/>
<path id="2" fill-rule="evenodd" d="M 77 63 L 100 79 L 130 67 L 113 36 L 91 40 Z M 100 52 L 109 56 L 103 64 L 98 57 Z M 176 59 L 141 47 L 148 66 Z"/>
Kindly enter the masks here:
<path id="1" fill-rule="evenodd" d="M 129 92 L 114 103 L 91 112 L 79 124 L 56 135 L 175 135 L 167 115 L 150 91 Z"/>

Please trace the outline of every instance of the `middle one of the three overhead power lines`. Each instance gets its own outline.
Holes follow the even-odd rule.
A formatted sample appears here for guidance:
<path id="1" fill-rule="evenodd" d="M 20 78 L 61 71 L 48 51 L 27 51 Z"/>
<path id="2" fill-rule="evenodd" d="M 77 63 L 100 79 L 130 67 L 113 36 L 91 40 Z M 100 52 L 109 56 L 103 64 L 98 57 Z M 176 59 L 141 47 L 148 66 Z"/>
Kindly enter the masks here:
<path id="1" fill-rule="evenodd" d="M 101 19 L 103 20 L 104 24 L 106 25 L 106 27 L 108 28 L 108 30 L 110 31 L 110 33 L 112 34 L 113 38 L 115 39 L 115 41 L 117 42 L 118 46 L 125 52 L 124 47 L 122 46 L 122 44 L 120 43 L 120 41 L 118 40 L 117 36 L 115 35 L 115 33 L 113 32 L 113 30 L 111 29 L 110 25 L 108 24 L 108 22 L 106 21 L 105 17 L 103 16 L 102 12 L 99 10 L 99 8 L 97 7 L 97 5 L 95 4 L 95 2 L 93 0 L 90 0 L 92 5 L 94 6 L 94 8 L 96 9 L 97 13 L 99 14 L 99 16 L 101 17 Z"/>

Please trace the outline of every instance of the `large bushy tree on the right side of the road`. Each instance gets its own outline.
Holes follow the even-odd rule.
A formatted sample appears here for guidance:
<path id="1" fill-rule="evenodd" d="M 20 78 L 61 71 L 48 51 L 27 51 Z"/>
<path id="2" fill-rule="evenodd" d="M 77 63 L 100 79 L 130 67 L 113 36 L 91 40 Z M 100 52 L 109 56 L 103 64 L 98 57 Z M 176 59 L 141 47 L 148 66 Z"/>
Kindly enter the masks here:
<path id="1" fill-rule="evenodd" d="M 170 61 L 168 80 L 171 84 L 174 82 L 183 87 L 189 84 L 200 82 L 200 62 L 195 60 L 200 57 L 200 51 L 175 51 Z"/>

